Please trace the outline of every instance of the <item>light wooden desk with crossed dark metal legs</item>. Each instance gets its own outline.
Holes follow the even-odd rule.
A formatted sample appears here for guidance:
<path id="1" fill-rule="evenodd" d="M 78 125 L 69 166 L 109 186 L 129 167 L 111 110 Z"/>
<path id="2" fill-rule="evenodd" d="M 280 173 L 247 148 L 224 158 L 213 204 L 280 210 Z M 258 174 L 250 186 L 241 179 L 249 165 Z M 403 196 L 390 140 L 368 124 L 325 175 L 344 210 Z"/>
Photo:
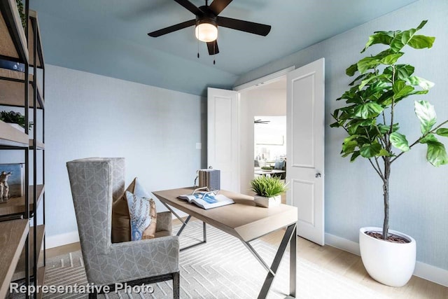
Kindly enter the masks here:
<path id="1" fill-rule="evenodd" d="M 185 200 L 179 200 L 177 198 L 179 195 L 191 194 L 192 192 L 193 188 L 179 188 L 153 192 L 153 194 L 158 197 L 158 199 L 165 204 L 174 215 L 177 216 L 171 207 L 175 207 L 190 215 L 186 221 L 183 221 L 177 216 L 179 220 L 183 222 L 177 235 L 181 234 L 183 228 L 185 228 L 190 220 L 190 217 L 193 216 L 204 222 L 204 241 L 199 244 L 207 242 L 205 223 L 213 225 L 215 228 L 223 230 L 240 239 L 246 248 L 251 251 L 253 256 L 255 256 L 267 270 L 267 277 L 258 298 L 266 298 L 276 271 L 278 270 L 281 258 L 283 257 L 283 253 L 286 251 L 286 246 L 290 243 L 290 296 L 295 297 L 297 207 L 288 206 L 286 204 L 280 204 L 278 207 L 271 207 L 269 209 L 258 207 L 255 206 L 253 197 L 225 190 L 221 190 L 220 194 L 232 198 L 232 200 L 235 201 L 235 204 L 206 210 L 197 207 L 195 204 L 190 204 Z M 274 232 L 275 230 L 285 227 L 285 235 L 283 235 L 279 249 L 276 252 L 272 265 L 269 267 L 249 242 L 253 239 L 258 239 L 263 235 L 267 235 L 269 232 Z"/>

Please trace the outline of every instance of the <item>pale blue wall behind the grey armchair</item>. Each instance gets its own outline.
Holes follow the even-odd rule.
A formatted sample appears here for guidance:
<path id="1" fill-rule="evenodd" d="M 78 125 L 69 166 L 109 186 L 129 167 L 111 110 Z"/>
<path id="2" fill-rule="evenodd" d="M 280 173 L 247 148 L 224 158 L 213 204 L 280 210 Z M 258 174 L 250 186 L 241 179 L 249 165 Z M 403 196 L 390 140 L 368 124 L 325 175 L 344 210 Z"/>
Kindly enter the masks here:
<path id="1" fill-rule="evenodd" d="M 148 191 L 193 186 L 207 154 L 195 148 L 207 144 L 204 98 L 52 65 L 45 83 L 48 237 L 77 230 L 67 161 L 125 157 L 127 183 L 138 176 Z"/>

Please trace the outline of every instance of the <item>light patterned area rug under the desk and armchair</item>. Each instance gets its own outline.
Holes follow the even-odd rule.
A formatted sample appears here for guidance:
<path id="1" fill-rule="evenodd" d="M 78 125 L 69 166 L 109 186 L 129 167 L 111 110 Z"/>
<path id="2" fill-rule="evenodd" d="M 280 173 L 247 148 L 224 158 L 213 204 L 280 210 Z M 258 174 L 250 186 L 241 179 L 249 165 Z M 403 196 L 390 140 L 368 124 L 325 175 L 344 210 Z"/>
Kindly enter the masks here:
<path id="1" fill-rule="evenodd" d="M 179 228 L 179 227 L 178 227 Z M 176 231 L 176 228 L 175 230 Z M 181 247 L 202 239 L 202 223 L 193 221 L 183 231 Z M 253 247 L 272 263 L 276 246 L 262 240 Z M 283 256 L 279 272 L 267 298 L 287 298 L 289 254 Z M 257 298 L 266 270 L 235 237 L 207 225 L 207 243 L 180 254 L 181 298 Z M 87 279 L 80 251 L 48 259 L 45 284 L 85 285 Z M 99 298 L 172 298 L 172 281 L 153 284 L 153 293 L 109 293 Z M 43 298 L 87 298 L 85 294 L 44 294 Z M 388 298 L 339 274 L 297 256 L 297 298 L 381 299 Z"/>

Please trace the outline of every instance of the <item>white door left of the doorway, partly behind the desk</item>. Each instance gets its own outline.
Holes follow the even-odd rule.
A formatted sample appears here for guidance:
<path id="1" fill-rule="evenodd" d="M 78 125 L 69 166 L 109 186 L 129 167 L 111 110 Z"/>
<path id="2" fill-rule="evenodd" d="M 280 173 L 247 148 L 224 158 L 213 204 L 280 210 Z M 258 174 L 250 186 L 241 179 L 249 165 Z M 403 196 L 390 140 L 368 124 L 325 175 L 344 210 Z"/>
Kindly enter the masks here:
<path id="1" fill-rule="evenodd" d="M 208 89 L 207 163 L 221 170 L 221 189 L 239 192 L 238 92 Z"/>

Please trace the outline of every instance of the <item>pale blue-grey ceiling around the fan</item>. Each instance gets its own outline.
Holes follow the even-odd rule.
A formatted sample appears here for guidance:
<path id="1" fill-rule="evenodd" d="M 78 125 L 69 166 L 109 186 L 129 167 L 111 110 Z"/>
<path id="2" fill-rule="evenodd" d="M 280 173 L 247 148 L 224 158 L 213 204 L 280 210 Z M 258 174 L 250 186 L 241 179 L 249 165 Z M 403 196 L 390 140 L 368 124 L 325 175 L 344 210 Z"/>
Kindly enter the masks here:
<path id="1" fill-rule="evenodd" d="M 219 27 L 214 57 L 198 44 L 194 27 L 147 35 L 195 18 L 172 0 L 30 0 L 30 6 L 38 11 L 46 63 L 203 95 L 207 86 L 230 88 L 241 74 L 414 1 L 235 0 L 222 16 L 272 30 L 262 37 Z"/>

